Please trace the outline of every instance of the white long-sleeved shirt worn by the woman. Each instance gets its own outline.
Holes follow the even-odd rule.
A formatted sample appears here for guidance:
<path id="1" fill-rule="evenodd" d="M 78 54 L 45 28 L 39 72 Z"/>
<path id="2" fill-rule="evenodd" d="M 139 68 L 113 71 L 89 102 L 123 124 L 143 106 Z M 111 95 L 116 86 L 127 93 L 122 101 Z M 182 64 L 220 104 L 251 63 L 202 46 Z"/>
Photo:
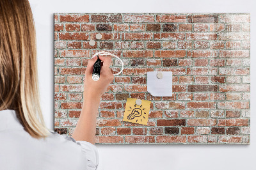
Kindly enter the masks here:
<path id="1" fill-rule="evenodd" d="M 24 130 L 14 110 L 0 111 L 0 169 L 91 170 L 98 164 L 95 145 L 57 132 L 35 139 Z"/>

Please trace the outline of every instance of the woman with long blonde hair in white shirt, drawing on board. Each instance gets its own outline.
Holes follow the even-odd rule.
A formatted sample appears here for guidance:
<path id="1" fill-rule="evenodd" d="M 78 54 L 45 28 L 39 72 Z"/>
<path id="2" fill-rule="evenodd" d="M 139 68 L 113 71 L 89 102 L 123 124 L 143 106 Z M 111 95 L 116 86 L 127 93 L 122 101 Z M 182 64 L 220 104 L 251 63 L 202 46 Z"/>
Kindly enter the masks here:
<path id="1" fill-rule="evenodd" d="M 93 81 L 97 58 L 88 61 L 83 108 L 72 137 L 49 132 L 40 109 L 35 25 L 28 0 L 0 1 L 0 169 L 97 169 L 94 146 L 100 97 L 113 81 L 103 61 Z"/>

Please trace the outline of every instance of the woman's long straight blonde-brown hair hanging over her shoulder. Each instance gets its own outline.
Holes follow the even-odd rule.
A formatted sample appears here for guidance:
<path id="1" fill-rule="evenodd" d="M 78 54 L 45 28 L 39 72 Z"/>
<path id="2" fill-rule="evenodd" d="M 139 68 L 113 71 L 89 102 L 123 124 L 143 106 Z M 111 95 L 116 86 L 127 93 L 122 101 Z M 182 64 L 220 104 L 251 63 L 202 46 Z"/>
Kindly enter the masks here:
<path id="1" fill-rule="evenodd" d="M 28 0 L 0 1 L 0 38 L 0 110 L 15 110 L 32 137 L 47 137 L 38 90 L 35 24 Z"/>

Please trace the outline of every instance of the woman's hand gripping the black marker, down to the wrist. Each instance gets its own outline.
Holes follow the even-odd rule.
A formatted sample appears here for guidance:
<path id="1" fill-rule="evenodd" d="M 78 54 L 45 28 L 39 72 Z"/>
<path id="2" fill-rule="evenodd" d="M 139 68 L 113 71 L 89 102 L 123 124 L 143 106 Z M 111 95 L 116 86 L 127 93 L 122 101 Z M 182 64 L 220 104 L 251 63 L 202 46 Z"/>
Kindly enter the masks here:
<path id="1" fill-rule="evenodd" d="M 114 79 L 114 75 L 109 68 L 112 61 L 111 57 L 99 56 L 99 59 L 103 61 L 103 65 L 100 69 L 100 79 L 98 81 L 92 79 L 93 65 L 97 61 L 97 56 L 88 61 L 84 77 L 84 99 L 102 97 Z"/>

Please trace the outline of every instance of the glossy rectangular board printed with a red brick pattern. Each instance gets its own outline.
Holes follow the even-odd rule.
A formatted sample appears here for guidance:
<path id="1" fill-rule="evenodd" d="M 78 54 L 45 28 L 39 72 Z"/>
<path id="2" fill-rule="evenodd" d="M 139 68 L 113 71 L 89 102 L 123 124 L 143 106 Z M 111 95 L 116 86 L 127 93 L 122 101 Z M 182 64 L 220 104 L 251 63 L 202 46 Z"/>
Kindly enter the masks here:
<path id="1" fill-rule="evenodd" d="M 56 13 L 56 132 L 74 131 L 84 70 L 100 50 L 124 71 L 101 98 L 97 144 L 250 143 L 250 14 Z M 172 97 L 147 92 L 150 71 L 172 71 Z M 127 98 L 151 101 L 148 125 L 122 121 Z"/>

